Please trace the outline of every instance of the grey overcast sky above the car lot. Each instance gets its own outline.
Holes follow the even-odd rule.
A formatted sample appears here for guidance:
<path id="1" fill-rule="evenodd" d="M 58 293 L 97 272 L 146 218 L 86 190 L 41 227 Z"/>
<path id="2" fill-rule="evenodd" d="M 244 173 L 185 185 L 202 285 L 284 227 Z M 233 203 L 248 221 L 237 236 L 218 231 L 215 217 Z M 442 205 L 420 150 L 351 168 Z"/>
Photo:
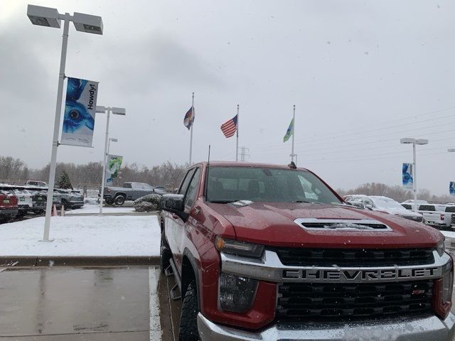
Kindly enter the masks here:
<path id="1" fill-rule="evenodd" d="M 31 168 L 50 160 L 62 29 L 33 26 L 27 2 L 0 1 L 0 155 Z M 183 116 L 196 93 L 193 161 L 235 159 L 220 125 L 240 104 L 250 161 L 289 163 L 283 136 L 296 105 L 299 166 L 334 188 L 400 184 L 417 148 L 419 187 L 448 194 L 455 180 L 454 1 L 41 1 L 102 16 L 104 34 L 70 26 L 65 74 L 100 82 L 112 153 L 127 163 L 188 162 Z M 60 146 L 58 161 L 102 160 Z"/>

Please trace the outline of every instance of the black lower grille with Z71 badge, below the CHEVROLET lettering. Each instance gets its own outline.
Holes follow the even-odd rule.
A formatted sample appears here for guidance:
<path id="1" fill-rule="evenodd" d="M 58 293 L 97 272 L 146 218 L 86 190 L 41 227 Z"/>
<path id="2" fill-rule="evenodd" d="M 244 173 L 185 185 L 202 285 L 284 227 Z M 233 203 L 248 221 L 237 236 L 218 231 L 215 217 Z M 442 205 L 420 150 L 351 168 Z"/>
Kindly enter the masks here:
<path id="1" fill-rule="evenodd" d="M 282 322 L 364 320 L 432 313 L 432 281 L 397 283 L 282 283 L 277 319 Z"/>

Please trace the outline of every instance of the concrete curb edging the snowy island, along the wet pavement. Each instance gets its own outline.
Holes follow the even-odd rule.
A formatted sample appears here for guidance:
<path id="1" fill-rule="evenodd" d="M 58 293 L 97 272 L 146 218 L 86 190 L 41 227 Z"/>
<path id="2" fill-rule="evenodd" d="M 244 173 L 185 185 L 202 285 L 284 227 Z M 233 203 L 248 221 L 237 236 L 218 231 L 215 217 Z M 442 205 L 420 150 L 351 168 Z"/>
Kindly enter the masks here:
<path id="1" fill-rule="evenodd" d="M 156 266 L 159 256 L 0 256 L 0 266 Z"/>

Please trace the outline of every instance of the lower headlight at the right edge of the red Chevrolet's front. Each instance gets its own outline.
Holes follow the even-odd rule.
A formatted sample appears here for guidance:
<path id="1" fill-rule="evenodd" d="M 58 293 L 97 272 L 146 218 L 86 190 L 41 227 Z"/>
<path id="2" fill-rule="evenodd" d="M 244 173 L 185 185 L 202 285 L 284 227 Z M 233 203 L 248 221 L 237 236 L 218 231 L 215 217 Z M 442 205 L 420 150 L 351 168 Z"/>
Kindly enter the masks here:
<path id="1" fill-rule="evenodd" d="M 452 308 L 452 291 L 454 289 L 454 262 L 452 259 L 442 267 L 442 276 L 434 281 L 433 309 L 444 320 Z"/>

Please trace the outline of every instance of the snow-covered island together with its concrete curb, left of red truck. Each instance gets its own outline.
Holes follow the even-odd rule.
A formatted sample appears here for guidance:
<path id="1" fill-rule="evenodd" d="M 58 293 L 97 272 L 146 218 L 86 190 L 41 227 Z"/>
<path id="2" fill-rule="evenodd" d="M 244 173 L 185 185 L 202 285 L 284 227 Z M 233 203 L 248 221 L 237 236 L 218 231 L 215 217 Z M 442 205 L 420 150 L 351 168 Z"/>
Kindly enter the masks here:
<path id="1" fill-rule="evenodd" d="M 159 260 L 161 231 L 156 215 L 52 217 L 42 242 L 44 217 L 0 225 L 0 264 L 125 265 Z"/>

